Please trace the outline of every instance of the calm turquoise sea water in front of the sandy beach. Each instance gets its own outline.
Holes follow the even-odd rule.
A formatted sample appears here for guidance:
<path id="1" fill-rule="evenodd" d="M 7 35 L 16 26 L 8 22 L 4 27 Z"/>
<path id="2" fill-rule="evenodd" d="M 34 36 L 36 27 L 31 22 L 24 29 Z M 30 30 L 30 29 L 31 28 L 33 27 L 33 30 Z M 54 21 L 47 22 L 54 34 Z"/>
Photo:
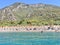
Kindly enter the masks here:
<path id="1" fill-rule="evenodd" d="M 60 45 L 59 32 L 0 33 L 0 45 Z"/>

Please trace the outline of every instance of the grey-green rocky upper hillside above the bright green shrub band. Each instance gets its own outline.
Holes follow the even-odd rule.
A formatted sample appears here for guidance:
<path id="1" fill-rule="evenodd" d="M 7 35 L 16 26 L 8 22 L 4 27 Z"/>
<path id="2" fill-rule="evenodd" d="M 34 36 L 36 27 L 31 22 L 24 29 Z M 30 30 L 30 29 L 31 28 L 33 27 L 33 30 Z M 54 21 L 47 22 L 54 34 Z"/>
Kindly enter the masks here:
<path id="1" fill-rule="evenodd" d="M 60 21 L 60 7 L 47 4 L 24 4 L 14 3 L 10 6 L 0 9 L 1 21 L 20 21 L 20 20 L 38 20 L 38 21 Z"/>

